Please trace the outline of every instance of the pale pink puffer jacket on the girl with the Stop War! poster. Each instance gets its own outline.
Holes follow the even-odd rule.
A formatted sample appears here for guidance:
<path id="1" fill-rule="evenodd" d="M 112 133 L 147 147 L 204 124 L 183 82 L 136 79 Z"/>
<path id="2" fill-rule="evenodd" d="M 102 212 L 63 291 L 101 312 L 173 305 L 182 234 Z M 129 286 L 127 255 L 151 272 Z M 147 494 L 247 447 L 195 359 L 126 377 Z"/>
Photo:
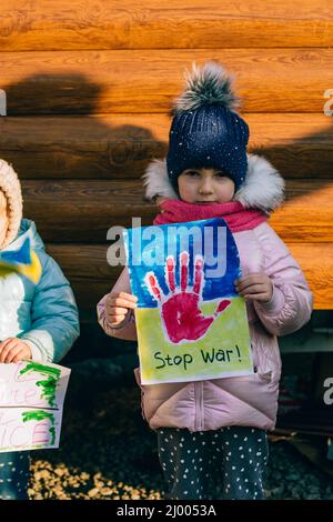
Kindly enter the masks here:
<path id="1" fill-rule="evenodd" d="M 159 171 L 163 170 L 162 163 L 157 168 Z M 272 165 L 264 159 L 249 154 L 250 188 L 251 181 L 255 180 L 259 172 L 261 181 L 265 177 L 265 187 L 271 182 L 269 188 L 272 195 L 266 207 L 272 209 L 273 198 L 275 205 L 280 199 L 278 192 L 281 192 L 281 179 L 279 184 L 279 174 Z M 152 169 L 149 175 L 152 175 Z M 159 175 L 157 169 L 154 175 Z M 165 173 L 163 175 L 165 177 Z M 164 182 L 168 183 L 168 180 Z M 151 185 L 149 181 L 149 189 L 153 193 Z M 170 187 L 167 189 L 162 195 L 170 197 Z M 245 189 L 248 193 L 242 192 L 242 199 L 239 197 L 239 201 L 244 205 L 258 208 L 258 184 L 255 193 L 251 193 L 249 188 Z M 161 194 L 161 178 L 159 193 Z M 137 382 L 142 391 L 143 415 L 152 429 L 176 426 L 190 431 L 205 431 L 228 425 L 246 425 L 271 430 L 275 425 L 281 375 L 276 338 L 294 332 L 309 321 L 313 304 L 312 292 L 300 265 L 266 222 L 233 235 L 240 252 L 243 274 L 263 271 L 271 278 L 274 287 L 270 302 L 246 302 L 254 373 L 190 383 L 142 385 L 140 371 L 135 369 Z M 111 292 L 119 291 L 131 293 L 127 269 L 122 271 Z M 120 328 L 110 327 L 104 312 L 105 298 L 107 295 L 98 304 L 99 323 L 105 333 L 119 339 L 135 340 L 133 314 L 129 313 Z"/>

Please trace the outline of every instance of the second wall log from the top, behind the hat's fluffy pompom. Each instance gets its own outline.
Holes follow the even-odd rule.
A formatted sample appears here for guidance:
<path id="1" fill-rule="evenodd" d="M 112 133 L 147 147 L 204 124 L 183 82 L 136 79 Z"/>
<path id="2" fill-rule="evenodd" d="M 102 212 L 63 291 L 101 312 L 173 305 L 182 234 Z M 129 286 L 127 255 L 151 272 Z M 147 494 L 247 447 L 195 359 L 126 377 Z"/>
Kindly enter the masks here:
<path id="1" fill-rule="evenodd" d="M 220 60 L 248 112 L 322 112 L 333 49 L 195 49 L 1 52 L 8 114 L 170 110 L 195 61 Z"/>

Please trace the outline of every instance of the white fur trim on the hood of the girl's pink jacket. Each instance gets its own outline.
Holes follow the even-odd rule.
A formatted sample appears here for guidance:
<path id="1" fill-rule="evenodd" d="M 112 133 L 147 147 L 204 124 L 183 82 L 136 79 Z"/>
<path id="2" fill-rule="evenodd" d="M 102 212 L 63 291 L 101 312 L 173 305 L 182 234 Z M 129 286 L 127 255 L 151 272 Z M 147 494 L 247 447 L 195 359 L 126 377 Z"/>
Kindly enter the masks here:
<path id="1" fill-rule="evenodd" d="M 167 160 L 153 160 L 142 177 L 145 187 L 145 198 L 151 201 L 154 197 L 179 199 L 168 177 Z M 264 158 L 248 154 L 248 171 L 244 183 L 234 194 L 233 201 L 239 201 L 246 209 L 260 209 L 271 212 L 276 209 L 284 198 L 284 180 L 276 169 Z"/>

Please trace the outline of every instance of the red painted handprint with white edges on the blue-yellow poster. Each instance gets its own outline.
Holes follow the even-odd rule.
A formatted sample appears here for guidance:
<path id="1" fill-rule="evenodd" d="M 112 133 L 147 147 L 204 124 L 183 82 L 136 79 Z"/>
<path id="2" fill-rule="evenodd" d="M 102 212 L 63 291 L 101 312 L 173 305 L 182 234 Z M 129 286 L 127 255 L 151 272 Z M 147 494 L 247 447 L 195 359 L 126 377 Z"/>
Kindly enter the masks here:
<path id="1" fill-rule="evenodd" d="M 180 289 L 175 287 L 174 258 L 167 258 L 165 281 L 170 293 L 164 295 L 153 272 L 145 274 L 150 294 L 159 302 L 162 321 L 165 325 L 171 342 L 196 341 L 202 338 L 214 319 L 220 315 L 230 304 L 229 299 L 220 301 L 213 315 L 204 317 L 199 308 L 202 298 L 203 258 L 195 255 L 194 260 L 194 284 L 193 289 L 188 287 L 189 280 L 189 253 L 180 254 Z"/>

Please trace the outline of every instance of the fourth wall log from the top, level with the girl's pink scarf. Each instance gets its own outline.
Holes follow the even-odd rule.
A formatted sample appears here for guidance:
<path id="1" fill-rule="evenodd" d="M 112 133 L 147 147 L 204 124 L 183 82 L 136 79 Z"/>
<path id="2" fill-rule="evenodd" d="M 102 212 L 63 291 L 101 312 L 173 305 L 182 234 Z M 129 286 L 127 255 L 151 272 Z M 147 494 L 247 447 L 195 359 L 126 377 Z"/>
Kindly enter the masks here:
<path id="1" fill-rule="evenodd" d="M 37 222 L 50 242 L 101 242 L 113 225 L 151 224 L 157 207 L 143 199 L 140 181 L 22 182 L 24 215 Z M 333 183 L 329 180 L 287 180 L 285 204 L 271 217 L 272 227 L 287 242 L 333 242 Z"/>

